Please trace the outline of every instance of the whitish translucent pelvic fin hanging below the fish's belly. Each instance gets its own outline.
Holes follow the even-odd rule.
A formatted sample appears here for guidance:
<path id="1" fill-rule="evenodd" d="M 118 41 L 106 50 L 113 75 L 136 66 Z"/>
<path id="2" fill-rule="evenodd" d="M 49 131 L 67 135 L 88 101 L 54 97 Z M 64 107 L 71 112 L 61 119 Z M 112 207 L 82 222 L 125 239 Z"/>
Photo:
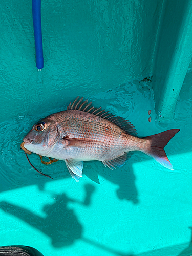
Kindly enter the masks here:
<path id="1" fill-rule="evenodd" d="M 65 160 L 65 162 L 72 178 L 78 182 L 80 177 L 82 177 L 83 161 L 70 159 Z"/>

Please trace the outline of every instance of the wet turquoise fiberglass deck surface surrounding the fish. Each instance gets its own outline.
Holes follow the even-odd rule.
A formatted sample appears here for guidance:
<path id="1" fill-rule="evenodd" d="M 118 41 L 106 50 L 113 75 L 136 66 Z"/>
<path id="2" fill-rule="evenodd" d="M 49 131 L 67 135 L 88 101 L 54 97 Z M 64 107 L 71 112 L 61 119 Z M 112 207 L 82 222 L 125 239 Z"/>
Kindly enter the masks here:
<path id="1" fill-rule="evenodd" d="M 0 3 L 0 246 L 31 246 L 45 256 L 192 255 L 191 65 L 174 119 L 159 123 L 152 77 L 159 1 L 42 2 L 41 71 L 31 5 Z M 175 171 L 134 152 L 113 171 L 85 162 L 78 183 L 65 162 L 45 166 L 31 154 L 53 179 L 35 172 L 20 149 L 23 137 L 77 96 L 129 120 L 140 136 L 180 129 L 165 147 Z"/>

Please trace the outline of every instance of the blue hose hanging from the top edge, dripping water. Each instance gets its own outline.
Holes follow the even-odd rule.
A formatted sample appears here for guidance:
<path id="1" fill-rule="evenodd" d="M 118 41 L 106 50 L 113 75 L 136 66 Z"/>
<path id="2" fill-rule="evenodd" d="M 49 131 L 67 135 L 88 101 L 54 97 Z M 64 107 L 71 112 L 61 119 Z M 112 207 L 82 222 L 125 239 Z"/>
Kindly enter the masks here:
<path id="1" fill-rule="evenodd" d="M 36 66 L 40 70 L 44 67 L 44 56 L 42 51 L 42 31 L 41 31 L 41 0 L 32 0 L 33 28 L 35 37 Z"/>

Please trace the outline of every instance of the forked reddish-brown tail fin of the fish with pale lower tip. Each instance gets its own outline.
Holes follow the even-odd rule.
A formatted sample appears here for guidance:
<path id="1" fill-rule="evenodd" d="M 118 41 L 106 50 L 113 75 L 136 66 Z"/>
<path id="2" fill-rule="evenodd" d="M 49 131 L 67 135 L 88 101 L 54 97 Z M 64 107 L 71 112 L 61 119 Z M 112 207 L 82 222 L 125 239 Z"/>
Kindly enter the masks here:
<path id="1" fill-rule="evenodd" d="M 148 139 L 150 141 L 150 146 L 147 148 L 147 150 L 144 151 L 144 153 L 146 153 L 149 156 L 152 156 L 157 162 L 159 162 L 164 167 L 170 170 L 174 170 L 172 164 L 168 160 L 168 157 L 164 151 L 164 147 L 169 142 L 169 140 L 172 139 L 179 131 L 180 129 L 172 129 L 145 137 L 144 139 Z"/>

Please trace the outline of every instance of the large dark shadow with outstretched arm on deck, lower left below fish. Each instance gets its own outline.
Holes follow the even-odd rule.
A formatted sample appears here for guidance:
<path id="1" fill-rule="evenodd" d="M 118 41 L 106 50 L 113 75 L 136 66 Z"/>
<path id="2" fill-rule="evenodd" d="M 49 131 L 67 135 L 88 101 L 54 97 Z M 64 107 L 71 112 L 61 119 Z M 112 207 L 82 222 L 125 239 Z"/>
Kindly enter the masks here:
<path id="1" fill-rule="evenodd" d="M 51 238 L 54 247 L 63 247 L 71 245 L 76 239 L 80 239 L 83 230 L 74 214 L 74 210 L 68 207 L 68 203 L 89 205 L 93 191 L 94 187 L 92 185 L 86 186 L 84 202 L 75 201 L 67 197 L 65 193 L 57 195 L 56 202 L 43 208 L 46 213 L 45 218 L 7 202 L 0 202 L 0 208 L 45 233 Z"/>

